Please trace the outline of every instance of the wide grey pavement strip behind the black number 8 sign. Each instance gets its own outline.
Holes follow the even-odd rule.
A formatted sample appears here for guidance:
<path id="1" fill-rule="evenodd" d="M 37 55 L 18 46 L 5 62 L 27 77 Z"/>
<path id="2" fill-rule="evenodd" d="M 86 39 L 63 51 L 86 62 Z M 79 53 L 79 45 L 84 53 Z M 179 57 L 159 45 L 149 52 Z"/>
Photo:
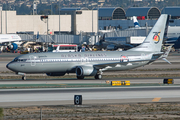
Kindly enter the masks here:
<path id="1" fill-rule="evenodd" d="M 3 89 L 0 106 L 73 105 L 74 95 L 82 95 L 84 105 L 179 102 L 180 86 Z"/>

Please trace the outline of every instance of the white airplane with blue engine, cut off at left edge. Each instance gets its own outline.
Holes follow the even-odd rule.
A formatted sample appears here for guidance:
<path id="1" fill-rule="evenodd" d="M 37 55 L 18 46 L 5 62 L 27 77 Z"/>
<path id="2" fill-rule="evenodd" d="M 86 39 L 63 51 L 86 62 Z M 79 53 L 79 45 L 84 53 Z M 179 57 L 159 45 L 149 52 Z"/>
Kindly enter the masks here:
<path id="1" fill-rule="evenodd" d="M 21 37 L 17 34 L 0 34 L 1 46 L 7 46 L 10 50 L 16 50 L 22 43 Z"/>

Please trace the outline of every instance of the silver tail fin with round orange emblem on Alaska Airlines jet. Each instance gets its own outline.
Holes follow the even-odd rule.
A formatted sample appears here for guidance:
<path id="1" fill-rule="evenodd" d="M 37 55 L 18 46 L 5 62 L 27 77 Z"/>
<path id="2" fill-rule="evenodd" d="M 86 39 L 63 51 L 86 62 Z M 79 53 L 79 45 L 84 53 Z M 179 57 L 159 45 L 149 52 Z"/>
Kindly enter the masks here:
<path id="1" fill-rule="evenodd" d="M 169 15 L 162 14 L 149 35 L 146 37 L 144 42 L 130 49 L 129 51 L 150 51 L 150 52 L 160 52 L 162 47 L 162 42 L 164 34 L 167 33 L 167 27 L 169 23 Z"/>

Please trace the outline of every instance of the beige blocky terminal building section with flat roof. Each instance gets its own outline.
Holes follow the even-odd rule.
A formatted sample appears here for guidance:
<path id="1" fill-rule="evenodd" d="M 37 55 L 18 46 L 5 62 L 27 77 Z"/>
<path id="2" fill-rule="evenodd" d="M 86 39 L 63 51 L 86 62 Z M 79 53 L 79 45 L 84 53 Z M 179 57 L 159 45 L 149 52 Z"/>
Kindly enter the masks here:
<path id="1" fill-rule="evenodd" d="M 0 33 L 97 33 L 97 10 L 69 10 L 61 15 L 16 15 L 16 11 L 0 11 Z M 60 23 L 60 24 L 59 24 Z"/>

